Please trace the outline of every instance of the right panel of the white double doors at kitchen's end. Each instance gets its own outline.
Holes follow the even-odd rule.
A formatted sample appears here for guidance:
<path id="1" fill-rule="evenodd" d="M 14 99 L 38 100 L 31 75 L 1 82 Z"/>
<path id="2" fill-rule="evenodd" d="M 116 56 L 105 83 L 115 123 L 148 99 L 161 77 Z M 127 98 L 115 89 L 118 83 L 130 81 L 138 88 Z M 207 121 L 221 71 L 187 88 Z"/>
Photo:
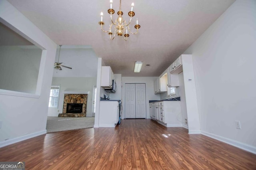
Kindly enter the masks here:
<path id="1" fill-rule="evenodd" d="M 145 84 L 135 84 L 136 118 L 146 118 L 146 87 Z"/>

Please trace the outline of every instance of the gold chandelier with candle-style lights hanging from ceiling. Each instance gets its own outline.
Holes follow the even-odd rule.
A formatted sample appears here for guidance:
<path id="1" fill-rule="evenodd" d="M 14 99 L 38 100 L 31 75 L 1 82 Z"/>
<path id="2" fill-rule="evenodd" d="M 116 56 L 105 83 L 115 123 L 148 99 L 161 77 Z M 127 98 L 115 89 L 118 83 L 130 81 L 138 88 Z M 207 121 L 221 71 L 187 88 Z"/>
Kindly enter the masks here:
<path id="1" fill-rule="evenodd" d="M 108 14 L 110 14 L 111 24 L 109 25 L 109 30 L 105 31 L 102 28 L 102 26 L 104 25 L 102 12 L 100 13 L 100 22 L 99 22 L 99 24 L 101 26 L 101 30 L 103 32 L 108 32 L 108 35 L 110 36 L 111 40 L 114 40 L 114 38 L 117 34 L 119 37 L 124 36 L 124 40 L 127 41 L 127 38 L 129 37 L 128 30 L 131 34 L 137 34 L 139 31 L 139 28 L 140 28 L 140 25 L 138 24 L 138 18 L 136 20 L 136 25 L 134 26 L 136 28 L 137 32 L 133 33 L 133 32 L 131 32 L 131 30 L 129 28 L 129 25 L 132 21 L 132 17 L 135 15 L 135 13 L 133 12 L 134 3 L 132 3 L 131 11 L 128 12 L 128 15 L 130 16 L 130 21 L 128 22 L 128 24 L 126 24 L 126 21 L 122 18 L 123 12 L 121 11 L 121 0 L 120 0 L 119 11 L 117 12 L 118 18 L 116 19 L 115 22 L 112 20 L 112 14 L 115 13 L 115 11 L 112 9 L 112 3 L 113 3 L 113 0 L 110 0 L 110 9 L 108 9 Z M 114 26 L 114 29 L 115 29 L 113 37 L 112 37 L 113 33 L 111 31 L 112 26 Z"/>

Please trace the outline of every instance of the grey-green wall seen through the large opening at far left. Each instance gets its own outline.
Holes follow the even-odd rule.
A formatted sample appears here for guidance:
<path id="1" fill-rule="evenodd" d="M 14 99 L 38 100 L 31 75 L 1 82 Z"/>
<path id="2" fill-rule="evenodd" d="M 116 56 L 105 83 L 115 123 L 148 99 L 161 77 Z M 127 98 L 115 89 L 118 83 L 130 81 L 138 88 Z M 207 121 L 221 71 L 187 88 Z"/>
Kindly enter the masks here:
<path id="1" fill-rule="evenodd" d="M 41 55 L 34 45 L 0 46 L 0 89 L 35 94 Z"/>

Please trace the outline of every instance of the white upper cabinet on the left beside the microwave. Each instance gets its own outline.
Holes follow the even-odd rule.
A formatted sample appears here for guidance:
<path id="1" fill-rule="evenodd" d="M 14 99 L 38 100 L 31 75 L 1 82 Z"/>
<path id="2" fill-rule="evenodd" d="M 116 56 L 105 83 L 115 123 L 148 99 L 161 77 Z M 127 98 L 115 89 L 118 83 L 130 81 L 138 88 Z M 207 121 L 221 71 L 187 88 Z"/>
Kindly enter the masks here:
<path id="1" fill-rule="evenodd" d="M 101 82 L 100 86 L 104 88 L 112 88 L 112 80 L 114 79 L 114 73 L 110 66 L 101 67 Z"/>

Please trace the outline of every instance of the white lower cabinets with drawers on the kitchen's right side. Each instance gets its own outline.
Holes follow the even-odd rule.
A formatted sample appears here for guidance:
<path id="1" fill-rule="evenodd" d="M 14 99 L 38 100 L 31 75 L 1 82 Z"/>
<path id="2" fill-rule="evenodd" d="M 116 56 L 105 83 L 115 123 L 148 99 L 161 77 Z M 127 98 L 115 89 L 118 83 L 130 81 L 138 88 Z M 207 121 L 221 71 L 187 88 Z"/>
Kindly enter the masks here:
<path id="1" fill-rule="evenodd" d="M 152 103 L 153 104 L 153 103 Z M 181 127 L 181 106 L 180 101 L 160 101 L 154 102 L 156 118 L 153 120 L 166 127 Z"/>

